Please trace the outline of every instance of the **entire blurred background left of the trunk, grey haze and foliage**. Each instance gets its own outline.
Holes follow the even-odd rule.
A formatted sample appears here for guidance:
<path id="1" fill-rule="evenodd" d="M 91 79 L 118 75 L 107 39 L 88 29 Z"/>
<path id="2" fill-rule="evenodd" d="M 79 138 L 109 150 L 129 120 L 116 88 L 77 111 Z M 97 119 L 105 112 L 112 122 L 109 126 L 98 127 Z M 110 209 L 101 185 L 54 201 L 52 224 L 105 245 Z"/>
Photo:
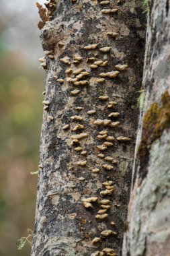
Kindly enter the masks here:
<path id="1" fill-rule="evenodd" d="M 39 1 L 43 3 L 43 1 Z M 43 56 L 34 0 L 1 0 L 0 17 L 0 255 L 30 255 L 18 239 L 34 230 Z"/>

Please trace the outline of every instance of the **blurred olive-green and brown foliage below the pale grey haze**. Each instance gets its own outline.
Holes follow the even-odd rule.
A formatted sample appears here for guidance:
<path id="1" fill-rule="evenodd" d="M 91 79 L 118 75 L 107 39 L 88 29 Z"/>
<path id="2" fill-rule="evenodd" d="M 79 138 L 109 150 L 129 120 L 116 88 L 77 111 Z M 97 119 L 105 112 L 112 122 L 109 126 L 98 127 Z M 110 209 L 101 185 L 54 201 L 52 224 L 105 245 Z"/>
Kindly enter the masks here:
<path id="1" fill-rule="evenodd" d="M 19 252 L 18 239 L 33 229 L 36 177 L 42 119 L 43 75 L 40 69 L 7 48 L 1 24 L 0 37 L 0 255 Z"/>

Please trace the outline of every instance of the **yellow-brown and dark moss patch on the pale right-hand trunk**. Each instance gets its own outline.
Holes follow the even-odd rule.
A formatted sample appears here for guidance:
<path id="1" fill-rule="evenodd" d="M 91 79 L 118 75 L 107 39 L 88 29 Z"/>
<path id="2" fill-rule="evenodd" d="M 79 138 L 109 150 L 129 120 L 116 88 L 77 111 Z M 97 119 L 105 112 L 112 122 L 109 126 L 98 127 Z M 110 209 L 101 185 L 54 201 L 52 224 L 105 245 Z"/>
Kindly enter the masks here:
<path id="1" fill-rule="evenodd" d="M 170 95 L 168 92 L 162 95 L 162 106 L 151 104 L 143 119 L 142 139 L 138 148 L 137 160 L 140 166 L 140 177 L 147 174 L 149 150 L 152 143 L 161 137 L 165 129 L 170 128 Z"/>

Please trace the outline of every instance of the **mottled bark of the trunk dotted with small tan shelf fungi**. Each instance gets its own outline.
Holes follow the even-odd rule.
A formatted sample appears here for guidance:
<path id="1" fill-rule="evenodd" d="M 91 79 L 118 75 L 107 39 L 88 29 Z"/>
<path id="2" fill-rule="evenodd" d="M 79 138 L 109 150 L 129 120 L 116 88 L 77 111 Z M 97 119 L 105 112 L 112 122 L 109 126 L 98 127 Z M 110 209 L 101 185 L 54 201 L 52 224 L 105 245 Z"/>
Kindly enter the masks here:
<path id="1" fill-rule="evenodd" d="M 140 5 L 136 0 L 107 5 L 61 0 L 50 7 L 49 22 L 42 15 L 42 46 L 50 52 L 42 60 L 46 93 L 32 256 L 89 256 L 106 247 L 121 255 L 142 79 L 145 15 Z M 114 11 L 106 14 L 102 9 Z M 84 49 L 89 44 L 97 46 Z M 74 71 L 80 68 L 77 77 Z M 118 69 L 124 70 L 115 73 Z M 99 80 L 102 77 L 105 80 Z M 69 81 L 74 78 L 78 83 Z M 81 133 L 87 134 L 73 141 L 72 136 Z M 106 181 L 108 186 L 102 184 Z M 97 201 L 83 205 L 89 197 Z M 112 232 L 101 233 L 105 230 Z M 98 244 L 92 243 L 95 237 L 100 238 Z"/>

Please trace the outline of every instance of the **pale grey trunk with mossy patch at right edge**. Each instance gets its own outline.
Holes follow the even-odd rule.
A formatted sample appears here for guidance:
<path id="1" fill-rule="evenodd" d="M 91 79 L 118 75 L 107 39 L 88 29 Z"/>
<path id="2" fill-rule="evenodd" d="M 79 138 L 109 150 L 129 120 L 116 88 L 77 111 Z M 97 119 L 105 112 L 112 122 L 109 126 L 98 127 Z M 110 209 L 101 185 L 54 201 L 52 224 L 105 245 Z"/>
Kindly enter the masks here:
<path id="1" fill-rule="evenodd" d="M 136 142 L 128 231 L 123 255 L 170 252 L 169 0 L 151 1 L 144 67 L 144 110 Z"/>

